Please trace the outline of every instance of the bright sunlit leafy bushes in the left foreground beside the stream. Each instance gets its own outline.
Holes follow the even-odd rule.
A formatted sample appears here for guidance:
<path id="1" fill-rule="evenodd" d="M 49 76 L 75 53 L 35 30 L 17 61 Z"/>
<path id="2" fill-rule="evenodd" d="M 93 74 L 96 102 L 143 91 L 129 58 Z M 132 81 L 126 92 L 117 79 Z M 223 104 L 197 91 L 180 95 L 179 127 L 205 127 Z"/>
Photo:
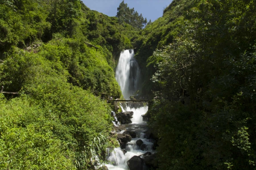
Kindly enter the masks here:
<path id="1" fill-rule="evenodd" d="M 68 83 L 69 74 L 61 62 L 46 59 L 41 51 L 15 49 L 9 55 L 1 65 L 1 82 L 21 89 L 18 98 L 6 100 L 1 95 L 0 167 L 90 166 L 92 141 L 100 135 L 108 137 L 111 129 L 110 107 L 91 92 Z M 96 142 L 102 142 L 102 149 L 93 154 L 104 158 L 102 150 L 109 144 L 107 140 Z M 81 151 L 87 156 L 84 162 L 79 160 Z"/>

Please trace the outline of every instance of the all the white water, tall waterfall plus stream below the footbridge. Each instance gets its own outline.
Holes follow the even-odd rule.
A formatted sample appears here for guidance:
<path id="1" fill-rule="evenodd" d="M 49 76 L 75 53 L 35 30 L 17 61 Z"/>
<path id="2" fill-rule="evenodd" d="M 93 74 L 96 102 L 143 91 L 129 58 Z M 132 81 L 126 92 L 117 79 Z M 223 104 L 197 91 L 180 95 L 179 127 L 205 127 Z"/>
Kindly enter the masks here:
<path id="1" fill-rule="evenodd" d="M 139 89 L 140 84 L 140 69 L 138 63 L 134 59 L 133 50 L 124 50 L 120 54 L 118 65 L 116 68 L 116 80 L 120 85 L 122 94 L 126 100 L 130 100 L 130 96 L 134 95 Z M 145 132 L 147 131 L 147 123 L 142 118 L 148 111 L 148 103 L 142 102 L 126 102 L 121 103 L 120 107 L 122 111 L 133 111 L 132 123 L 125 124 L 125 129 L 136 133 L 136 138 L 126 143 L 126 153 L 120 147 L 114 150 L 108 150 L 107 160 L 110 164 L 106 165 L 109 170 L 129 170 L 127 161 L 133 156 L 140 156 L 146 152 L 154 152 L 153 141 L 145 138 Z M 116 122 L 116 121 L 115 121 Z M 114 123 L 114 122 L 113 122 Z M 114 124 L 115 125 L 115 124 Z M 118 124 L 116 124 L 118 126 Z M 123 133 L 120 131 L 118 133 Z M 136 141 L 141 139 L 142 145 L 136 145 Z M 139 170 L 139 169 L 138 169 Z"/>

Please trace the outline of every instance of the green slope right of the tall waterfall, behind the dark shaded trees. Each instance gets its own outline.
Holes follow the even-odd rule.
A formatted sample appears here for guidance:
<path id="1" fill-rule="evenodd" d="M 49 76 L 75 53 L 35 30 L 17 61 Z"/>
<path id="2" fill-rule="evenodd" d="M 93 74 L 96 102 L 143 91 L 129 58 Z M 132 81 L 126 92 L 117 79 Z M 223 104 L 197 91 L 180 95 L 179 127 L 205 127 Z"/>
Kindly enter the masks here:
<path id="1" fill-rule="evenodd" d="M 184 20 L 186 11 L 191 8 L 192 2 L 188 0 L 173 0 L 164 10 L 162 17 L 146 25 L 140 31 L 140 35 L 133 39 L 136 48 L 136 59 L 140 64 L 142 74 L 144 74 L 143 95 L 152 97 L 151 90 L 154 88 L 150 78 L 156 71 L 154 64 L 160 60 L 152 57 L 156 49 L 161 49 L 165 45 L 172 43 L 179 33 L 179 24 Z M 147 62 L 145 62 L 147 61 Z"/>

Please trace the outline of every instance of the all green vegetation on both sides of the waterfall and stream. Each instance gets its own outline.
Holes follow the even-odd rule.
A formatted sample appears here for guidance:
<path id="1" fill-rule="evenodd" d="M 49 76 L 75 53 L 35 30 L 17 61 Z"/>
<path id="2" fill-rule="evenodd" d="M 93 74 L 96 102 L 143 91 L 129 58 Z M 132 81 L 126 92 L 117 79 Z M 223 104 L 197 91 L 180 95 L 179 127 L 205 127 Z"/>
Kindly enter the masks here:
<path id="1" fill-rule="evenodd" d="M 116 142 L 100 97 L 122 98 L 114 68 L 136 47 L 140 93 L 159 98 L 158 169 L 255 170 L 255 40 L 255 0 L 173 0 L 149 23 L 124 1 L 108 17 L 79 0 L 2 0 L 0 86 L 19 95 L 0 94 L 0 168 L 104 160 Z"/>

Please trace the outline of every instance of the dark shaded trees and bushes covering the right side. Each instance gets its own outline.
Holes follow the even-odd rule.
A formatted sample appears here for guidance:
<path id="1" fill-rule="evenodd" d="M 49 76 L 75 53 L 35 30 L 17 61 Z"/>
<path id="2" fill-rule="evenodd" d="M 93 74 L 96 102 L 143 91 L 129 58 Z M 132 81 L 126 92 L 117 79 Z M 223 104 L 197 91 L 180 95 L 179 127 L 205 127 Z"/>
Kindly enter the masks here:
<path id="1" fill-rule="evenodd" d="M 147 64 L 160 98 L 150 110 L 159 169 L 256 169 L 256 1 L 184 2 L 164 11 L 186 9 L 175 29 L 142 39 L 158 48 Z"/>

